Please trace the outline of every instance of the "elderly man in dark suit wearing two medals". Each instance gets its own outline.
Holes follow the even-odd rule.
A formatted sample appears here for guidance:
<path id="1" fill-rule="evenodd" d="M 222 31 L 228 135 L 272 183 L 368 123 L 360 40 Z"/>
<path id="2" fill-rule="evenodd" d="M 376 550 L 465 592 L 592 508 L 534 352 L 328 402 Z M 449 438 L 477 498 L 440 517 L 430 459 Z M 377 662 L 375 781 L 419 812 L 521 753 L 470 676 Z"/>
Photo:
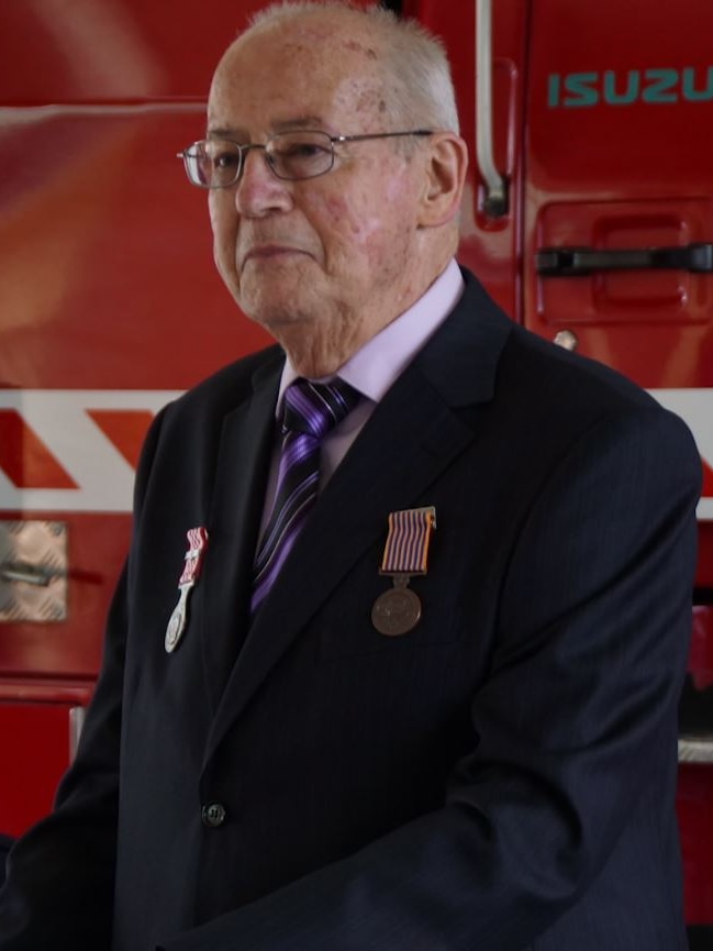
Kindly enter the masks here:
<path id="1" fill-rule="evenodd" d="M 153 427 L 0 951 L 683 949 L 688 431 L 458 269 L 466 148 L 413 24 L 264 13 L 183 157 L 280 345 Z"/>

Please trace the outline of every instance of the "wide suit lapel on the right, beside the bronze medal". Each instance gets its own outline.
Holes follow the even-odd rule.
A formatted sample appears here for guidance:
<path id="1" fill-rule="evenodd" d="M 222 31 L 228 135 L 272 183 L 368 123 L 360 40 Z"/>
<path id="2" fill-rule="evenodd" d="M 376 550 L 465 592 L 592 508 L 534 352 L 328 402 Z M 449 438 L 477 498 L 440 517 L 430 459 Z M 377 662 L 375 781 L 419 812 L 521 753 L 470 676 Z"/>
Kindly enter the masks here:
<path id="1" fill-rule="evenodd" d="M 310 617 L 385 533 L 388 513 L 408 508 L 477 436 L 457 410 L 492 398 L 511 325 L 470 278 L 452 317 L 377 407 L 248 632 L 213 723 L 207 759 Z M 257 480 L 253 490 L 260 497 Z M 243 507 L 248 504 L 246 497 Z M 253 535 L 253 550 L 254 543 Z M 246 555 L 238 567 L 249 567 Z"/>

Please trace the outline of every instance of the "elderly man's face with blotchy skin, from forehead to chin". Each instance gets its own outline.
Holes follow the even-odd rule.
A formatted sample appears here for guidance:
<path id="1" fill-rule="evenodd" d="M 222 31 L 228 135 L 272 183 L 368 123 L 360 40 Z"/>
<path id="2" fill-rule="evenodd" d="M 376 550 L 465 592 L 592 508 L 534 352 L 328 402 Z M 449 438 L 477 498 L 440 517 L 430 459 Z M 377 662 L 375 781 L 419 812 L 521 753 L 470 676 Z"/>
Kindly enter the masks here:
<path id="1" fill-rule="evenodd" d="M 219 66 L 208 137 L 265 143 L 274 133 L 398 131 L 388 119 L 380 46 L 349 23 L 311 18 L 238 41 Z M 319 339 L 344 358 L 419 296 L 423 177 L 393 140 L 336 146 L 334 168 L 283 181 L 261 151 L 239 183 L 210 193 L 218 268 L 239 307 L 292 355 Z M 334 368 L 334 367 L 333 367 Z"/>

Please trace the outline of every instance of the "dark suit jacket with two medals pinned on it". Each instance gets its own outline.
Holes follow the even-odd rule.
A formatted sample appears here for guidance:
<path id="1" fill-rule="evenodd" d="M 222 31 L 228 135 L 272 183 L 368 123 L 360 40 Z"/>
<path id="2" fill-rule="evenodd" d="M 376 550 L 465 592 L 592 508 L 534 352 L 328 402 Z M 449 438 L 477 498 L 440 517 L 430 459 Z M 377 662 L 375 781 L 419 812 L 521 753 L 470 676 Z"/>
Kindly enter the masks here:
<path id="1" fill-rule="evenodd" d="M 115 951 L 682 949 L 688 430 L 467 276 L 250 627 L 281 365 L 250 356 L 156 420 L 96 700 L 11 856 L 0 951 L 101 951 L 112 921 Z M 387 516 L 426 505 L 423 618 L 383 637 Z"/>

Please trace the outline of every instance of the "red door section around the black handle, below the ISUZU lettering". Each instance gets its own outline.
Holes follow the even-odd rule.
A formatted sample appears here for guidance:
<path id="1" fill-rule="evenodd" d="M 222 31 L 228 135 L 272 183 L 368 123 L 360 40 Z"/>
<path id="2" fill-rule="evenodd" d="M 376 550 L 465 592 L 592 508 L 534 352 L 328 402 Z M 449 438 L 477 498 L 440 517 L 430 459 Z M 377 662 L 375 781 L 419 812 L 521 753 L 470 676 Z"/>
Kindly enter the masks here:
<path id="1" fill-rule="evenodd" d="M 686 246 L 713 236 L 713 199 L 550 201 L 535 246 L 626 250 Z M 713 363 L 701 361 L 711 335 L 713 278 L 680 269 L 600 272 L 539 277 L 528 313 L 550 339 L 572 330 L 579 350 L 655 388 L 713 386 Z M 713 340 L 713 338 L 712 338 Z"/>

